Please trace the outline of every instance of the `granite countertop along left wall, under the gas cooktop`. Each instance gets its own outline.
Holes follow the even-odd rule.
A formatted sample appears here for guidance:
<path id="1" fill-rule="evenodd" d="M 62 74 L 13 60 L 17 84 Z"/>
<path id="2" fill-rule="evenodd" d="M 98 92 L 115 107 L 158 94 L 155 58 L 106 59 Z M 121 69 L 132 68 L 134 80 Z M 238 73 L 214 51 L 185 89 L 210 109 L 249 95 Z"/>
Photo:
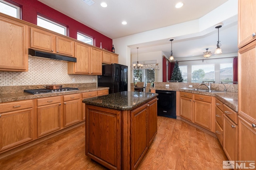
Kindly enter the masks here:
<path id="1" fill-rule="evenodd" d="M 9 93 L 9 94 L 0 94 L 0 103 L 3 102 L 13 102 L 18 100 L 28 100 L 35 98 L 45 98 L 52 96 L 61 96 L 66 94 L 76 94 L 76 93 L 84 93 L 84 92 L 93 92 L 97 90 L 106 90 L 108 87 L 83 87 L 78 88 L 79 90 L 70 91 L 70 92 L 54 92 L 54 93 L 45 93 L 45 94 L 29 94 L 26 92 L 21 93 Z"/>

